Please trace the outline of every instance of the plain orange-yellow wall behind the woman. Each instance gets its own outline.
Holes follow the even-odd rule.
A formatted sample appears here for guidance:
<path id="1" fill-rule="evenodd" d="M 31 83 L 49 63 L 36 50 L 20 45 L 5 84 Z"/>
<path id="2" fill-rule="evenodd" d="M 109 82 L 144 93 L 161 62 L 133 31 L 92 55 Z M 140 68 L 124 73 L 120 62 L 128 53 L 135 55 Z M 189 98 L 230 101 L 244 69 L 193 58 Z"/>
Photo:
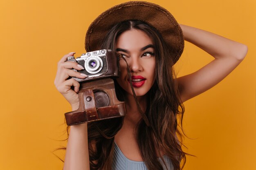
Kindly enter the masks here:
<path id="1" fill-rule="evenodd" d="M 0 169 L 56 170 L 69 104 L 54 87 L 58 60 L 84 53 L 85 32 L 116 1 L 0 1 Z M 246 44 L 245 60 L 222 82 L 185 102 L 185 170 L 256 169 L 256 1 L 150 0 L 179 23 Z M 178 76 L 213 60 L 186 42 Z M 64 135 L 63 135 L 64 134 Z M 63 152 L 56 152 L 63 155 Z"/>

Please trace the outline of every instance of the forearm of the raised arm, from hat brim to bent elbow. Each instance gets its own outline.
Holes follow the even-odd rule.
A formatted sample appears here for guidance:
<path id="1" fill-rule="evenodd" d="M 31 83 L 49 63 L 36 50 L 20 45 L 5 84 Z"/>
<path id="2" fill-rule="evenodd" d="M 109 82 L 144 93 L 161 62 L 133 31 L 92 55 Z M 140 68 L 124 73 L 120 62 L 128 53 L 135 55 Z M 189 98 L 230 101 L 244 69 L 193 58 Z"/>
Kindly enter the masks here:
<path id="1" fill-rule="evenodd" d="M 180 26 L 184 40 L 198 46 L 216 59 L 233 57 L 238 60 L 243 60 L 247 53 L 247 46 L 244 44 L 191 26 L 183 24 L 180 24 Z"/>

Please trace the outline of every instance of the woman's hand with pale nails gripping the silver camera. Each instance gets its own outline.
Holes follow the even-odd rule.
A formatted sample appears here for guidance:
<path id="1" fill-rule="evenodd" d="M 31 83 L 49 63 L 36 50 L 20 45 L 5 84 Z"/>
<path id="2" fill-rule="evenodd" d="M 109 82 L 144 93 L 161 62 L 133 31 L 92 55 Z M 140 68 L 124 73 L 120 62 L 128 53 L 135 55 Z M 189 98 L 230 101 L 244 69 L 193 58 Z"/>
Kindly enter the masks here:
<path id="1" fill-rule="evenodd" d="M 73 78 L 67 78 L 71 76 L 84 79 L 88 76 L 72 70 L 73 68 L 79 71 L 83 70 L 83 66 L 77 64 L 76 62 L 65 62 L 67 61 L 67 57 L 74 56 L 74 54 L 75 53 L 66 54 L 58 62 L 58 69 L 54 84 L 57 90 L 70 103 L 70 105 L 72 106 L 72 110 L 77 110 L 79 107 L 79 98 L 77 93 L 79 91 L 80 84 Z M 74 90 L 71 89 L 72 86 L 74 86 Z"/>

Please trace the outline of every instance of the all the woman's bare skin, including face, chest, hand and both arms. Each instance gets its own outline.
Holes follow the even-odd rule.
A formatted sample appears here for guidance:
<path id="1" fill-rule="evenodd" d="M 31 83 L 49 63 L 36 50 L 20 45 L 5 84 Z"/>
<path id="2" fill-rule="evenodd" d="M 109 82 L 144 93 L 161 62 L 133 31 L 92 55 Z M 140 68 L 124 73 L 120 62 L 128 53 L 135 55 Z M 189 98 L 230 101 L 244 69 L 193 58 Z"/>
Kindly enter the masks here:
<path id="1" fill-rule="evenodd" d="M 224 79 L 229 73 L 231 73 L 231 71 L 234 70 L 234 68 L 236 68 L 236 66 L 240 64 L 240 62 L 243 61 L 248 49 L 245 44 L 229 40 L 220 35 L 183 24 L 180 24 L 180 26 L 182 28 L 184 40 L 191 42 L 214 57 L 213 61 L 203 66 L 198 71 L 189 75 L 178 77 L 176 79 L 180 87 L 180 97 L 182 102 L 185 102 L 186 100 L 207 91 L 209 88 L 215 86 L 218 84 L 218 82 Z M 137 43 L 137 41 L 142 42 Z M 145 45 L 148 45 L 148 43 L 152 43 L 150 41 L 150 38 L 144 33 L 134 30 L 126 31 L 125 33 L 121 34 L 117 41 L 118 48 L 126 49 L 126 51 L 130 52 L 124 53 L 124 51 L 119 51 L 119 53 L 127 55 L 126 58 L 129 62 L 131 74 L 142 75 L 143 77 L 147 78 L 143 86 L 140 88 L 135 88 L 135 93 L 138 95 L 142 110 L 144 110 L 146 107 L 144 95 L 152 86 L 154 80 L 154 78 L 152 78 L 154 75 L 151 71 L 155 67 L 153 67 L 155 59 L 154 57 L 149 57 L 150 59 L 142 57 L 143 52 L 141 52 L 139 49 Z M 81 70 L 82 68 L 77 66 L 77 64 L 74 62 L 65 62 L 68 56 L 74 56 L 74 53 L 64 55 L 63 58 L 58 62 L 58 70 L 54 84 L 57 90 L 65 97 L 65 99 L 67 99 L 68 102 L 70 102 L 72 110 L 77 110 L 79 107 L 77 92 L 80 85 L 74 79 L 66 79 L 69 76 L 78 78 L 85 77 L 80 75 L 78 72 L 70 70 L 72 68 Z M 148 64 L 145 67 L 146 62 Z M 136 107 L 132 107 L 136 106 L 136 104 L 126 82 L 127 73 L 124 69 L 126 67 L 123 65 L 123 61 L 120 61 L 120 64 L 122 74 L 118 82 L 120 86 L 127 92 L 127 116 L 124 119 L 123 127 L 115 136 L 115 141 L 128 159 L 141 161 L 142 159 L 133 134 L 135 124 L 141 118 L 141 116 Z M 74 91 L 71 89 L 71 86 L 74 86 Z M 90 170 L 86 123 L 70 127 L 70 136 L 67 143 L 63 169 Z"/>

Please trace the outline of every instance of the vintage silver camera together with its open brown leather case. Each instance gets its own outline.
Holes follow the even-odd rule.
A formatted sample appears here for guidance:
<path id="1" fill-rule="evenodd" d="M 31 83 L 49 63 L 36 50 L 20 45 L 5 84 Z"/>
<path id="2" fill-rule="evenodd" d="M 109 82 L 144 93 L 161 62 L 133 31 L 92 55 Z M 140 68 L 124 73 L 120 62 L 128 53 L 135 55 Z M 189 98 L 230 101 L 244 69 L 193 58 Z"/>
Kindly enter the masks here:
<path id="1" fill-rule="evenodd" d="M 92 51 L 76 59 L 73 56 L 68 57 L 67 61 L 84 66 L 84 70 L 75 71 L 88 75 L 85 79 L 72 77 L 80 83 L 79 108 L 65 113 L 67 125 L 121 117 L 126 114 L 124 102 L 120 102 L 116 97 L 112 79 L 119 77 L 120 73 L 119 57 L 116 52 L 106 49 Z"/>

